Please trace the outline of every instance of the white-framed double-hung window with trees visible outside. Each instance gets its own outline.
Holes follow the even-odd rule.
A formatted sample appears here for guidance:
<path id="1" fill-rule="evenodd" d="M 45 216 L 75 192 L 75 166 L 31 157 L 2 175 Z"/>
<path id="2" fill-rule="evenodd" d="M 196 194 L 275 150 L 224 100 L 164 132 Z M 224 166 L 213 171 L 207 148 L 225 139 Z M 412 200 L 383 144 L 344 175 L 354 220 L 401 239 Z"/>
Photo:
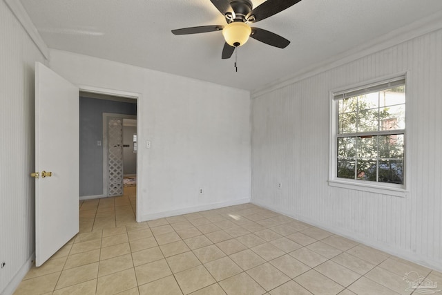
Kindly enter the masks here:
<path id="1" fill-rule="evenodd" d="M 404 188 L 405 77 L 333 94 L 332 178 Z"/>

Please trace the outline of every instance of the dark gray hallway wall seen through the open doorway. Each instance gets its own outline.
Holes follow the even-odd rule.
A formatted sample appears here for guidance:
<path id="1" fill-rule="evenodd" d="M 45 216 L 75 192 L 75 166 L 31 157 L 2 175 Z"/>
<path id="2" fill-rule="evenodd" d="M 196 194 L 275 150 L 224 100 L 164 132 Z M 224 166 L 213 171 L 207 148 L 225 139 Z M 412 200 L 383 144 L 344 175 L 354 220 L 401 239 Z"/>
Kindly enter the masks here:
<path id="1" fill-rule="evenodd" d="M 137 104 L 80 97 L 80 196 L 103 194 L 103 113 L 137 115 Z"/>

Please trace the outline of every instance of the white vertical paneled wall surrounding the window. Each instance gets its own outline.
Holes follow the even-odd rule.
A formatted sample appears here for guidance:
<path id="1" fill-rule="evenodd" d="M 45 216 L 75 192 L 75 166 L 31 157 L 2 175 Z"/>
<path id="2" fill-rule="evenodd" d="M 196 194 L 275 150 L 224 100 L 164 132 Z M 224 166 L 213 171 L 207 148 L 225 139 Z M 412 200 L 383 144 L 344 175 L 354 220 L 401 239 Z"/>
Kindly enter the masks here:
<path id="1" fill-rule="evenodd" d="M 407 196 L 330 187 L 329 91 L 405 72 Z M 252 94 L 252 202 L 441 269 L 441 111 L 442 30 Z"/>

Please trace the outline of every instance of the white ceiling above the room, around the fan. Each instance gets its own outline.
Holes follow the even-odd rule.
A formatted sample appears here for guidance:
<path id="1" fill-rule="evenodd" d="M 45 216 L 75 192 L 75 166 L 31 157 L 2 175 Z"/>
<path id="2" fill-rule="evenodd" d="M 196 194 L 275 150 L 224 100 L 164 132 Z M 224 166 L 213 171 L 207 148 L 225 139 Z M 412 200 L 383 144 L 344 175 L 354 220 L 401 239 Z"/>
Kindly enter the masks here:
<path id="1" fill-rule="evenodd" d="M 264 0 L 253 0 L 256 7 Z M 442 0 L 302 0 L 253 24 L 291 41 L 249 39 L 221 59 L 221 32 L 171 30 L 225 24 L 209 0 L 21 0 L 49 48 L 254 90 L 442 11 Z"/>

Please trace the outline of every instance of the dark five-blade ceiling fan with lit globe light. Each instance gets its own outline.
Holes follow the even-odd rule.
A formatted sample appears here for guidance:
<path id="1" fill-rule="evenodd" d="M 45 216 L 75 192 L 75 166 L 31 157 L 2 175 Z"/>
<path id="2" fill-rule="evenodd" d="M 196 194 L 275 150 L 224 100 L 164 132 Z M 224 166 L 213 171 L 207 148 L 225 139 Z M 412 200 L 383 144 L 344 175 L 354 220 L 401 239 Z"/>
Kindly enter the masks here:
<path id="1" fill-rule="evenodd" d="M 267 17 L 293 6 L 301 0 L 267 0 L 253 8 L 251 0 L 211 0 L 226 18 L 227 25 L 198 26 L 172 30 L 174 35 L 189 35 L 202 32 L 222 31 L 225 39 L 222 59 L 229 59 L 235 48 L 244 45 L 249 37 L 278 48 L 286 48 L 290 41 L 274 32 L 251 27 L 249 23 L 262 21 Z"/>

